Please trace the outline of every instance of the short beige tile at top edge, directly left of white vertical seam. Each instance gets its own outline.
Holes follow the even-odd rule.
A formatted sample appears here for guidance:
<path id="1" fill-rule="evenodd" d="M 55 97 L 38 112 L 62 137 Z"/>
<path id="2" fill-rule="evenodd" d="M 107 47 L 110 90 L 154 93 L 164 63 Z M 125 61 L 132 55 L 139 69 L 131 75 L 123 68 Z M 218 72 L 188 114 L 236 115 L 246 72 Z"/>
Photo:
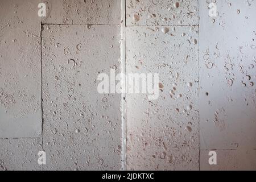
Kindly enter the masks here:
<path id="1" fill-rule="evenodd" d="M 43 23 L 53 24 L 120 24 L 119 0 L 46 1 L 47 16 Z"/>

